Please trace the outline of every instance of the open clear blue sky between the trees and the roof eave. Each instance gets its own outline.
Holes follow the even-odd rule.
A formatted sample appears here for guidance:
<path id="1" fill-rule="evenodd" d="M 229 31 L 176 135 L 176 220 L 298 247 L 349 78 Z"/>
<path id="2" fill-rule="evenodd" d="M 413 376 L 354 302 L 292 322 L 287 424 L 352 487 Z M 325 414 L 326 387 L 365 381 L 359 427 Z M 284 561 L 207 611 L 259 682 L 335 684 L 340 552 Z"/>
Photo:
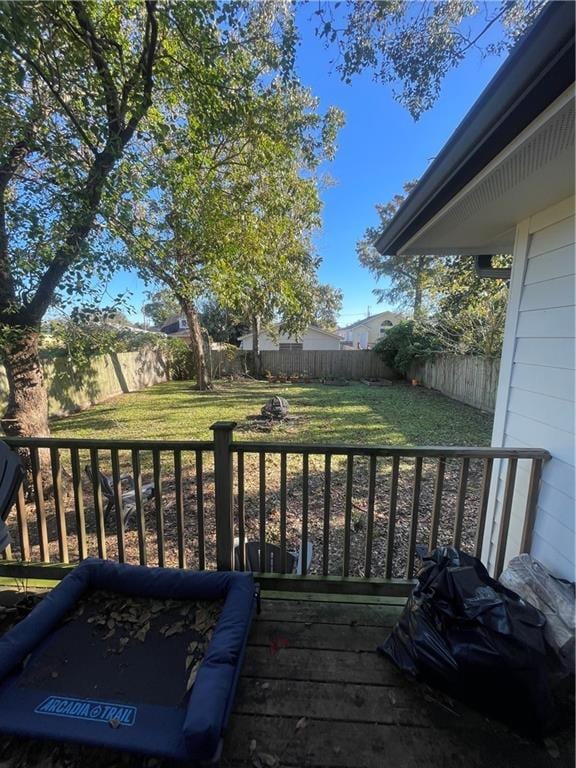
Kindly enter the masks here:
<path id="1" fill-rule="evenodd" d="M 320 98 L 321 108 L 340 107 L 346 126 L 338 140 L 334 162 L 326 170 L 335 185 L 323 191 L 323 229 L 316 237 L 322 257 L 320 279 L 344 292 L 341 324 L 389 308 L 378 304 L 372 291 L 374 277 L 358 263 L 355 246 L 367 226 L 377 222 L 374 206 L 387 202 L 402 191 L 406 181 L 416 179 L 428 167 L 460 120 L 484 90 L 502 60 L 470 55 L 446 77 L 440 98 L 433 109 L 414 122 L 408 111 L 392 97 L 388 86 L 375 83 L 370 72 L 341 82 L 331 65 L 333 50 L 326 50 L 314 34 L 311 3 L 298 12 L 301 45 L 297 67 L 302 82 Z M 474 25 L 473 25 L 474 26 Z M 380 287 L 384 285 L 380 284 Z M 130 288 L 135 320 L 145 287 L 137 276 L 122 272 L 109 285 L 115 294 Z"/>

